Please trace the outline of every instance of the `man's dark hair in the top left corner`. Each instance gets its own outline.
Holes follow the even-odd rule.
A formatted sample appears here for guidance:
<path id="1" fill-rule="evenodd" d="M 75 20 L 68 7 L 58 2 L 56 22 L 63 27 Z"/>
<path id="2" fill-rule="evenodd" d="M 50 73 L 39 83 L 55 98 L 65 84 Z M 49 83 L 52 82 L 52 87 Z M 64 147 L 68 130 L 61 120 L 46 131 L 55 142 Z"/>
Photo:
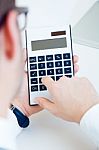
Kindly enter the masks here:
<path id="1" fill-rule="evenodd" d="M 15 0 L 0 0 L 0 26 L 2 26 L 7 13 L 15 8 Z"/>

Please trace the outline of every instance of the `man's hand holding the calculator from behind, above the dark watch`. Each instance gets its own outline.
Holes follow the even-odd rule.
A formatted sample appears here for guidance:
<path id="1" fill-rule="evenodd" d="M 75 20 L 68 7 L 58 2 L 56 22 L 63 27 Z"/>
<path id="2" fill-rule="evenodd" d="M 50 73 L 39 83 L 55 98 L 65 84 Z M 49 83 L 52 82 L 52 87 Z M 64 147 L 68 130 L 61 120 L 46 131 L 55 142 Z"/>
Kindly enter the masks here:
<path id="1" fill-rule="evenodd" d="M 24 51 L 24 54 L 26 54 L 25 51 Z M 26 62 L 26 56 L 24 56 L 24 60 Z M 79 66 L 77 65 L 77 62 L 78 62 L 78 57 L 75 55 L 74 56 L 75 73 L 77 73 L 79 70 Z M 13 104 L 15 106 L 18 106 L 19 108 L 21 108 L 22 111 L 24 112 L 24 114 L 28 117 L 43 109 L 39 105 L 38 106 L 29 106 L 27 72 L 24 72 L 24 80 L 23 80 L 23 83 L 21 86 L 21 90 L 20 90 L 18 96 L 16 97 L 16 99 L 13 101 Z"/>

